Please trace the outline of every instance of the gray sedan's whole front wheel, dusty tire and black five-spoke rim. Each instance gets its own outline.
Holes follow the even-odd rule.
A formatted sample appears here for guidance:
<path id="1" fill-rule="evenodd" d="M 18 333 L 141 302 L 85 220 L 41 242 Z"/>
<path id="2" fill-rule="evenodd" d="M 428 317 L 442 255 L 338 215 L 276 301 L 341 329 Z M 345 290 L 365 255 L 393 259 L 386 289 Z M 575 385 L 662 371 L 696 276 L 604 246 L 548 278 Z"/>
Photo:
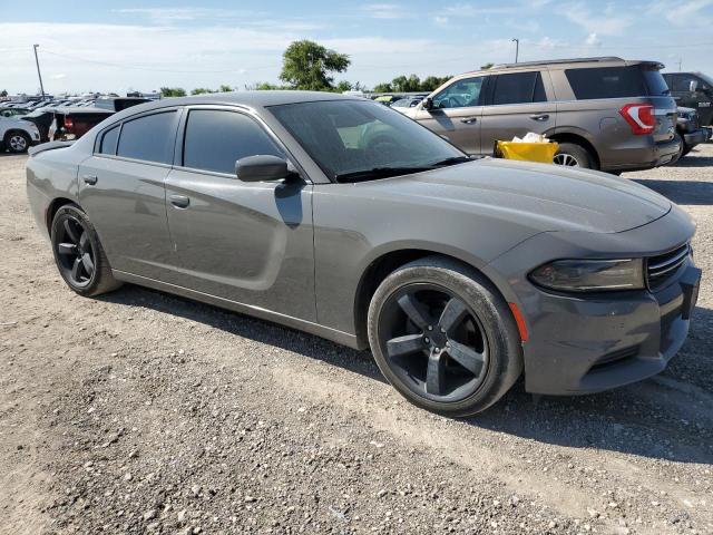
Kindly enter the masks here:
<path id="1" fill-rule="evenodd" d="M 368 330 L 387 380 L 445 416 L 487 409 L 522 371 L 508 304 L 481 274 L 450 259 L 429 256 L 387 276 L 371 300 Z"/>

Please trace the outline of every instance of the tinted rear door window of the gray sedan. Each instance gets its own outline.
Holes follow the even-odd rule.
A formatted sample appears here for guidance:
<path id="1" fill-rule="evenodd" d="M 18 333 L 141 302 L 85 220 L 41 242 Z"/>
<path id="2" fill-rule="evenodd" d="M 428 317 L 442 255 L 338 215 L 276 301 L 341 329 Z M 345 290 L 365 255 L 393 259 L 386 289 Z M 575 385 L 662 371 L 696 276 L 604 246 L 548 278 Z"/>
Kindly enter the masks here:
<path id="1" fill-rule="evenodd" d="M 176 137 L 175 119 L 175 111 L 164 111 L 124 123 L 117 155 L 170 163 Z"/>

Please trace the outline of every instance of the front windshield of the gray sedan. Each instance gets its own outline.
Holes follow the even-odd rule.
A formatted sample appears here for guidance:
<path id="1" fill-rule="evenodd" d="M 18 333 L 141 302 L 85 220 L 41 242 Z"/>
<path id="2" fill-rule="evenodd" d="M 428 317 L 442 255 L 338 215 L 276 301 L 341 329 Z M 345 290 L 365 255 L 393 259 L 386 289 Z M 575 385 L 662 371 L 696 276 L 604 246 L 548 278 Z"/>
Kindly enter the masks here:
<path id="1" fill-rule="evenodd" d="M 286 104 L 270 110 L 335 182 L 383 178 L 468 159 L 416 121 L 369 100 Z"/>

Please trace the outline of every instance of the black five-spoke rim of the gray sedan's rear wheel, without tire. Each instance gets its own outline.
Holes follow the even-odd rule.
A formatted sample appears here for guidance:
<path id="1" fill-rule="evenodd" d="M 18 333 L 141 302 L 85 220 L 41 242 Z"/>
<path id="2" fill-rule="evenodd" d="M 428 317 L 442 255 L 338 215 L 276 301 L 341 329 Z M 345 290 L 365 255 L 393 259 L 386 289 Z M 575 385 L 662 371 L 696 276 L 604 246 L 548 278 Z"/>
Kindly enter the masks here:
<path id="1" fill-rule="evenodd" d="M 89 231 L 78 217 L 62 214 L 57 226 L 56 252 L 65 279 L 77 288 L 89 285 L 95 274 L 96 255 Z"/>

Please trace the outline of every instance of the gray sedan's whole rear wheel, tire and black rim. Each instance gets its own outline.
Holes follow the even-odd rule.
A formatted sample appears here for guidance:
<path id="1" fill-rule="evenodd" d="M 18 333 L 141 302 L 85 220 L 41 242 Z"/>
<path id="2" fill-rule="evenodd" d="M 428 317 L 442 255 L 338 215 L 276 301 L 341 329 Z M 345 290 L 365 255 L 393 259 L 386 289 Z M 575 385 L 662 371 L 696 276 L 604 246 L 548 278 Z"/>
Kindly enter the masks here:
<path id="1" fill-rule="evenodd" d="M 78 206 L 67 204 L 57 211 L 50 239 L 57 269 L 72 291 L 92 296 L 121 285 L 111 274 L 97 231 Z"/>

